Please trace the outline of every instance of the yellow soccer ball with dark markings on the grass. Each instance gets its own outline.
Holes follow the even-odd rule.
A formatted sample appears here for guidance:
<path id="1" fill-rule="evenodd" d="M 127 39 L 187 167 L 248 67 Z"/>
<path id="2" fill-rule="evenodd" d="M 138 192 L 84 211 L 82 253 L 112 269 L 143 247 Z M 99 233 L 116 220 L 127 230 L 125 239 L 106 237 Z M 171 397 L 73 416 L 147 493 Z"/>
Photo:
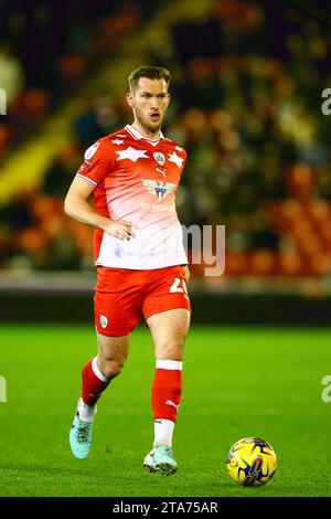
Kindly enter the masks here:
<path id="1" fill-rule="evenodd" d="M 243 438 L 231 447 L 226 466 L 238 485 L 258 487 L 275 476 L 277 457 L 271 445 L 264 439 Z"/>

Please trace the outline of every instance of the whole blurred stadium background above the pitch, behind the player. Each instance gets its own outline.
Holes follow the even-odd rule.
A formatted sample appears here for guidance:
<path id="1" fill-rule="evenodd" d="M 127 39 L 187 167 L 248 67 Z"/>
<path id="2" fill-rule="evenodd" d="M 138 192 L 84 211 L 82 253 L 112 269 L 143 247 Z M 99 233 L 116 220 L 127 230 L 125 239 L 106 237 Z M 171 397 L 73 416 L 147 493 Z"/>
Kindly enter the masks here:
<path id="1" fill-rule="evenodd" d="M 226 225 L 225 274 L 191 265 L 196 322 L 329 324 L 328 3 L 0 0 L 0 319 L 90 320 L 93 231 L 63 200 L 148 63 L 172 73 L 164 133 L 189 152 L 179 218 Z"/>

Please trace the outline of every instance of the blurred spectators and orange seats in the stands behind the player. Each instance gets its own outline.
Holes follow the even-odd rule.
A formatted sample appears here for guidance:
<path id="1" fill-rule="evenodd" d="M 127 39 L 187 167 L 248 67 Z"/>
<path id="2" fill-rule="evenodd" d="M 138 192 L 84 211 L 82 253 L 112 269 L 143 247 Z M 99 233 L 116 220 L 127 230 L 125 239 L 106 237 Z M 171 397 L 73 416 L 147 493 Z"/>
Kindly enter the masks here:
<path id="1" fill-rule="evenodd" d="M 58 30 L 56 42 L 46 39 L 42 53 L 35 45 L 50 11 L 36 2 L 38 38 L 28 45 L 31 13 L 10 12 L 11 33 L 0 33 L 0 70 L 6 62 L 14 85 L 10 120 L 0 125 L 3 156 L 31 138 L 79 88 L 96 56 L 111 55 L 143 15 L 136 2 L 118 2 L 108 13 L 108 2 L 87 2 L 90 11 L 77 17 L 76 3 L 57 18 L 71 30 Z M 229 275 L 331 273 L 331 126 L 321 113 L 321 92 L 331 86 L 330 20 L 324 2 L 308 1 L 303 10 L 299 2 L 215 0 L 203 21 L 172 27 L 170 55 L 151 52 L 151 64 L 173 72 L 164 133 L 189 155 L 179 218 L 185 225 L 226 225 Z M 8 39 L 11 49 L 1 46 Z M 60 56 L 55 67 L 50 54 Z M 40 190 L 0 208 L 2 268 L 92 266 L 92 230 L 64 216 L 63 198 L 84 149 L 126 123 L 130 112 L 111 93 L 87 100 Z M 192 265 L 193 274 L 202 267 Z"/>

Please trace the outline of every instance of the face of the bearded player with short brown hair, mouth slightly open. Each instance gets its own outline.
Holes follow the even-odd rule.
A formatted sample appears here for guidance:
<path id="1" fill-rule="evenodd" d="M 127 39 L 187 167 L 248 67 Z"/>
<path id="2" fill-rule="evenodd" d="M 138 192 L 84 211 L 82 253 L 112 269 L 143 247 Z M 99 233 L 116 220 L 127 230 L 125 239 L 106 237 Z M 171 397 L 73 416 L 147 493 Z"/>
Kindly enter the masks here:
<path id="1" fill-rule="evenodd" d="M 161 128 L 169 102 L 170 94 L 164 80 L 140 77 L 137 88 L 128 94 L 135 118 L 151 133 Z"/>

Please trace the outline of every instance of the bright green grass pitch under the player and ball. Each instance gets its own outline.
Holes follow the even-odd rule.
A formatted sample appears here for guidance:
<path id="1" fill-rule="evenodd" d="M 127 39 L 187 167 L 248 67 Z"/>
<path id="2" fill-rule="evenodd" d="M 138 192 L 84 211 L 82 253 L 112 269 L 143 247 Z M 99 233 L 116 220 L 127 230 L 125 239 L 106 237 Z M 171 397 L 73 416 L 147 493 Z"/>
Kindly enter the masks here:
<path id="1" fill-rule="evenodd" d="M 321 399 L 330 329 L 192 327 L 174 432 L 179 472 L 170 478 L 141 466 L 153 433 L 145 328 L 99 401 L 89 457 L 72 456 L 81 369 L 94 354 L 92 327 L 1 325 L 0 496 L 331 496 L 331 402 Z M 226 454 L 245 436 L 267 439 L 278 456 L 264 487 L 227 475 Z"/>

